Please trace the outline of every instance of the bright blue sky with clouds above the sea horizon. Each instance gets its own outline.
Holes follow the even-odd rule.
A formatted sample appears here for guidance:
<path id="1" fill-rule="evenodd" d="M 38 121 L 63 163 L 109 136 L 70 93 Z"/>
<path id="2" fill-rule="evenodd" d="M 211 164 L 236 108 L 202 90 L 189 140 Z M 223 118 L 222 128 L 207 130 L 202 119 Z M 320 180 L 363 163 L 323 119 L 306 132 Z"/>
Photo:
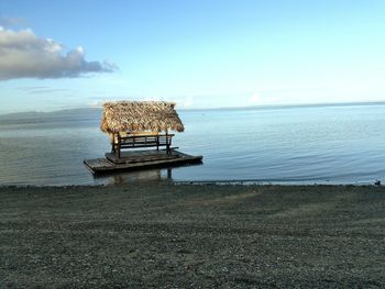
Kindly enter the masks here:
<path id="1" fill-rule="evenodd" d="M 0 1 L 0 113 L 385 101 L 383 0 Z"/>

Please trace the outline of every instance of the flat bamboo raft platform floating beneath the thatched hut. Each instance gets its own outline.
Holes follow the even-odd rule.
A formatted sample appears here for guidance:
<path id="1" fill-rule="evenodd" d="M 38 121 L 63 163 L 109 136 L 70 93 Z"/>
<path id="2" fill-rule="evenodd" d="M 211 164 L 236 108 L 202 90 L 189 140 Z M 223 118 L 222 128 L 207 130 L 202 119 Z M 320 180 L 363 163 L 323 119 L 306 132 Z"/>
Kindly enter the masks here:
<path id="1" fill-rule="evenodd" d="M 124 152 L 120 159 L 113 154 L 106 154 L 106 158 L 85 159 L 84 164 L 95 175 L 120 170 L 143 169 L 150 167 L 172 167 L 186 164 L 199 164 L 202 156 L 190 156 L 178 151 L 167 155 L 165 151 Z"/>

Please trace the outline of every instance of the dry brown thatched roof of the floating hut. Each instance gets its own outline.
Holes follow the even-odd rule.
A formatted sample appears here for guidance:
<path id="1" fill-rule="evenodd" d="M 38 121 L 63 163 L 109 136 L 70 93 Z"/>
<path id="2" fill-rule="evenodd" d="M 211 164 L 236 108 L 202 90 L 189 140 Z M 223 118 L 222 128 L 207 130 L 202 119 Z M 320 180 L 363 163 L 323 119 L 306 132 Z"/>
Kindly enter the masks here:
<path id="1" fill-rule="evenodd" d="M 185 130 L 175 103 L 166 101 L 117 101 L 103 103 L 101 131 L 118 133 L 127 131 Z"/>

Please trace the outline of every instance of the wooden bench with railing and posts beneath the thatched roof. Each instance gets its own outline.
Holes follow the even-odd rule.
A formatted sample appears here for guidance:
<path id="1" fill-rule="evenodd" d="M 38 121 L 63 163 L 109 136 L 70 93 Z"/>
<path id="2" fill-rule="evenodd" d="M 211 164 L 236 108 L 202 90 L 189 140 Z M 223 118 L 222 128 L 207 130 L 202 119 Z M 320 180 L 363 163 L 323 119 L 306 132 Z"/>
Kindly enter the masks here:
<path id="1" fill-rule="evenodd" d="M 141 147 L 160 147 L 165 146 L 166 153 L 172 153 L 170 146 L 174 134 L 128 134 L 121 136 L 117 135 L 114 143 L 112 144 L 111 153 L 114 153 L 120 158 L 121 149 L 125 148 L 141 148 Z"/>

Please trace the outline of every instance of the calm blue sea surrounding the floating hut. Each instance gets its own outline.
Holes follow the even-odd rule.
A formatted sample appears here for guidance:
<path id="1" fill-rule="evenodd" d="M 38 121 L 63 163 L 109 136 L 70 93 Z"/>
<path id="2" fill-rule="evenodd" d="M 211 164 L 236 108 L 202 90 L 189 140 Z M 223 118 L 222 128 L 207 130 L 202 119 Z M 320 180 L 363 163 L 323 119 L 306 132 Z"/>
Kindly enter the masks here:
<path id="1" fill-rule="evenodd" d="M 100 110 L 0 115 L 0 185 L 138 179 L 284 184 L 385 181 L 385 104 L 179 111 L 180 151 L 204 164 L 94 178 L 85 158 L 110 149 Z"/>

